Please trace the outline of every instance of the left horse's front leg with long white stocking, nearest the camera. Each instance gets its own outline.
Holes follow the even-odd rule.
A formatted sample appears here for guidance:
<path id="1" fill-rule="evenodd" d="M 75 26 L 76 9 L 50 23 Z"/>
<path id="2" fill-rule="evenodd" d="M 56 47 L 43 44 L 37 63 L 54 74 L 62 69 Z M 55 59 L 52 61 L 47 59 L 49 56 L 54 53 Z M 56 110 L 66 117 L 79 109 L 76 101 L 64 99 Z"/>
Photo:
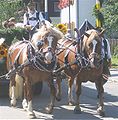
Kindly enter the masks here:
<path id="1" fill-rule="evenodd" d="M 30 118 L 35 118 L 36 116 L 32 107 L 32 85 L 29 77 L 25 77 L 25 87 L 27 94 L 27 112 Z"/>

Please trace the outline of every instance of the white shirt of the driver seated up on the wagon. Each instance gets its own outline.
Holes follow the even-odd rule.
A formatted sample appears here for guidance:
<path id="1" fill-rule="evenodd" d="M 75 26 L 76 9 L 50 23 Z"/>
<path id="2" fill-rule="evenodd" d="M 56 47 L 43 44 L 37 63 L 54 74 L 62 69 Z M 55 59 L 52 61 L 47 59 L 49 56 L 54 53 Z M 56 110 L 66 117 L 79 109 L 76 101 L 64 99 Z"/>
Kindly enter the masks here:
<path id="1" fill-rule="evenodd" d="M 35 27 L 36 24 L 37 24 L 37 21 L 38 21 L 38 20 L 37 20 L 36 13 L 37 13 L 36 10 L 35 10 L 35 12 L 34 12 L 33 14 L 30 13 L 30 12 L 25 13 L 25 14 L 24 14 L 24 22 L 23 22 L 24 25 L 28 25 L 28 23 L 29 23 L 29 25 Z M 28 14 L 28 17 L 26 16 L 26 14 Z M 30 18 L 35 18 L 35 20 L 30 20 Z M 44 20 L 44 17 L 43 17 L 43 15 L 42 15 L 41 12 L 39 12 L 39 20 L 40 20 L 40 21 L 43 21 L 43 20 Z"/>

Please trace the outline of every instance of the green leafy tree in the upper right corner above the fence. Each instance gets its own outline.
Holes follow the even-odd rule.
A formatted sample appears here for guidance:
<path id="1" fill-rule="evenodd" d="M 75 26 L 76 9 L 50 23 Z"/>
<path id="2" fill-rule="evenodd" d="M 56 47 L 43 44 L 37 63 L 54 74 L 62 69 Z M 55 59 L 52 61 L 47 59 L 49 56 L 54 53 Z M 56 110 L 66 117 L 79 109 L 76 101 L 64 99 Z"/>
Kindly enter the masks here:
<path id="1" fill-rule="evenodd" d="M 118 38 L 118 0 L 104 0 L 102 11 L 107 36 Z"/>

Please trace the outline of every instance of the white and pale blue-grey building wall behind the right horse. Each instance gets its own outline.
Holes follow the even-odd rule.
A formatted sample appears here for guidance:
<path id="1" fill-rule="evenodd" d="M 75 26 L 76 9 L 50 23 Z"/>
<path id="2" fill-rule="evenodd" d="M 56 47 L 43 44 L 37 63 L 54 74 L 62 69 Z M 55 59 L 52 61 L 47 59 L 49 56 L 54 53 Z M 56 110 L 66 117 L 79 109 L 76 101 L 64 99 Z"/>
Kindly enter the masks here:
<path id="1" fill-rule="evenodd" d="M 95 26 L 95 18 L 92 16 L 93 7 L 96 0 L 74 0 L 74 4 L 70 7 L 61 9 L 61 23 L 73 23 L 74 27 L 79 28 L 87 19 Z"/>

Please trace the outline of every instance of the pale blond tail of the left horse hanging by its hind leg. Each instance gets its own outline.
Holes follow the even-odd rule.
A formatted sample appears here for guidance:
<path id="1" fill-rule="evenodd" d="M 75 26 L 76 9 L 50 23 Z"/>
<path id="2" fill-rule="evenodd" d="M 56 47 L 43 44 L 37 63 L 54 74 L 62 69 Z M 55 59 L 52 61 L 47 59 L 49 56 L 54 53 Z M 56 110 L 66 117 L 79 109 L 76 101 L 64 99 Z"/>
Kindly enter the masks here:
<path id="1" fill-rule="evenodd" d="M 22 98 L 23 96 L 23 78 L 16 74 L 15 76 L 15 81 L 16 81 L 16 86 L 15 86 L 15 98 L 18 99 L 18 98 Z M 12 86 L 10 84 L 10 87 L 9 87 L 9 96 L 11 98 L 12 96 Z"/>

